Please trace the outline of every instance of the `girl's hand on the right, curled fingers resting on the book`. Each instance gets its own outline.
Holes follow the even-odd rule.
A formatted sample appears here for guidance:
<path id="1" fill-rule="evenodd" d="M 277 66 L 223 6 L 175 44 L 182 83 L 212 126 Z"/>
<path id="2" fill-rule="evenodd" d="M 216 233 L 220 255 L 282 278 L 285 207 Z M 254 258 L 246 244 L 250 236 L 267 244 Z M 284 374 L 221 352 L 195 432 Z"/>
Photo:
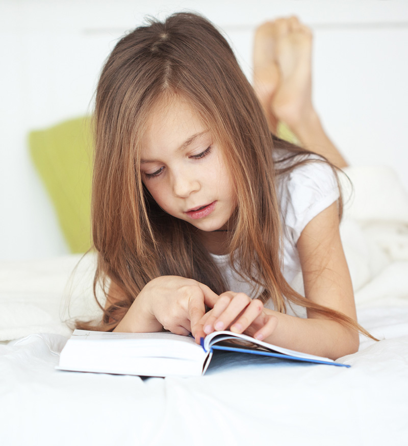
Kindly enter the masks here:
<path id="1" fill-rule="evenodd" d="M 215 331 L 228 330 L 245 333 L 259 340 L 270 336 L 277 326 L 276 316 L 265 311 L 259 299 L 250 299 L 245 293 L 226 291 L 220 294 L 212 310 L 192 327 L 197 342 L 200 337 Z"/>

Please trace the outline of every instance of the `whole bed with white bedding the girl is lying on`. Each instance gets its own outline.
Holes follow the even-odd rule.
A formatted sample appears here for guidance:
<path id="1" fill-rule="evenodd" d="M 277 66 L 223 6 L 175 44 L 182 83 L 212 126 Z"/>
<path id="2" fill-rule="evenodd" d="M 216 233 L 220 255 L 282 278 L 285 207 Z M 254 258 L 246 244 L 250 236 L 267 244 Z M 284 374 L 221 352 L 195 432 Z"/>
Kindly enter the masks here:
<path id="1" fill-rule="evenodd" d="M 66 321 L 98 314 L 94 256 L 3 262 L 1 444 L 408 444 L 408 195 L 389 168 L 347 174 L 343 243 L 380 339 L 350 368 L 225 355 L 199 378 L 59 371 Z"/>

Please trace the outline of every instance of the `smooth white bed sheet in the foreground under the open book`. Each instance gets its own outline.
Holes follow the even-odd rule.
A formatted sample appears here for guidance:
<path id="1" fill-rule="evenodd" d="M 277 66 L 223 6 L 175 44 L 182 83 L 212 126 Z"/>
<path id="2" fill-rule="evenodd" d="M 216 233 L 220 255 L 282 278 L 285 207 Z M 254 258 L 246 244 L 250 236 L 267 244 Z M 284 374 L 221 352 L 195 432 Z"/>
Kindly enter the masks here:
<path id="1" fill-rule="evenodd" d="M 349 369 L 226 355 L 204 377 L 142 380 L 55 370 L 61 335 L 1 345 L 2 444 L 406 444 L 408 307 L 359 313 L 384 340 Z"/>

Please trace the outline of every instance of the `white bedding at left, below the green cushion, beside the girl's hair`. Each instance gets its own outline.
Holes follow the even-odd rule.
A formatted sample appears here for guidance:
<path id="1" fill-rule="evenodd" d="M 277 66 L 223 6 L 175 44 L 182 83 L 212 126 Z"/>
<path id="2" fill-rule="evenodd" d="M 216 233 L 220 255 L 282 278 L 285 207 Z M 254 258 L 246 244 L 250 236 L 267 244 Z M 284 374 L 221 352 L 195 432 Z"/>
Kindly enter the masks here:
<path id="1" fill-rule="evenodd" d="M 68 319 L 100 317 L 95 256 L 81 257 L 0 263 L 0 341 L 41 332 L 69 336 Z"/>

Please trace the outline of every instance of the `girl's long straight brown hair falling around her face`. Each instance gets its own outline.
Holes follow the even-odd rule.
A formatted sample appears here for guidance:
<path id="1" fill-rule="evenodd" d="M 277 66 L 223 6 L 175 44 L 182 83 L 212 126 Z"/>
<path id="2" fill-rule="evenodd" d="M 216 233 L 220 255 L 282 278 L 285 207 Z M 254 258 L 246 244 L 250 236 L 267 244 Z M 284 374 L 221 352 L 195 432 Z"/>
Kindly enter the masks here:
<path id="1" fill-rule="evenodd" d="M 224 37 L 205 18 L 177 13 L 124 36 L 108 58 L 96 92 L 92 228 L 98 265 L 94 289 L 113 281 L 123 300 L 104 308 L 97 325 L 112 330 L 142 288 L 162 275 L 182 276 L 216 293 L 225 282 L 196 230 L 166 214 L 143 186 L 140 146 L 157 101 L 187 101 L 223 150 L 236 185 L 231 264 L 285 312 L 285 299 L 358 329 L 354 321 L 295 292 L 282 274 L 282 231 L 273 151 L 308 153 L 271 135 L 262 108 Z M 239 262 L 237 263 L 237 260 Z M 96 296 L 96 293 L 95 293 Z M 101 307 L 102 308 L 102 307 Z"/>

